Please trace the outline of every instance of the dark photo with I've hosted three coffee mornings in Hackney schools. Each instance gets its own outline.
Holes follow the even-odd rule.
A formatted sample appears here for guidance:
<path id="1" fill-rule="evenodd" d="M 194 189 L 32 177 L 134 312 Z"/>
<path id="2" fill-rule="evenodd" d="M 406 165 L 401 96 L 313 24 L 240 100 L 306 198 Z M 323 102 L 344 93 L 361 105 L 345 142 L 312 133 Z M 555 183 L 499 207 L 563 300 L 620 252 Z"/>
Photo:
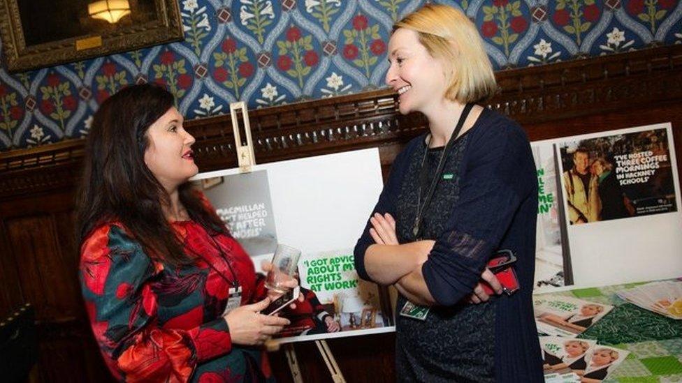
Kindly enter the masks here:
<path id="1" fill-rule="evenodd" d="M 558 144 L 569 225 L 677 211 L 665 128 Z"/>

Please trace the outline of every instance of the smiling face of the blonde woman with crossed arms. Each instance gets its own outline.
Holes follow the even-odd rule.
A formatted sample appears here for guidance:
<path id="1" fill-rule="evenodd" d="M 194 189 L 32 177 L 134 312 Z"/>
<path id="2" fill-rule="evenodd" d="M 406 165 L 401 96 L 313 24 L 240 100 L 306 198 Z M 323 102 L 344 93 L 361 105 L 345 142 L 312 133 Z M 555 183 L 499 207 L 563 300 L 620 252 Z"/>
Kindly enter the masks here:
<path id="1" fill-rule="evenodd" d="M 398 92 L 400 113 L 438 112 L 447 89 L 444 66 L 419 43 L 419 33 L 399 28 L 389 40 L 386 84 Z"/>

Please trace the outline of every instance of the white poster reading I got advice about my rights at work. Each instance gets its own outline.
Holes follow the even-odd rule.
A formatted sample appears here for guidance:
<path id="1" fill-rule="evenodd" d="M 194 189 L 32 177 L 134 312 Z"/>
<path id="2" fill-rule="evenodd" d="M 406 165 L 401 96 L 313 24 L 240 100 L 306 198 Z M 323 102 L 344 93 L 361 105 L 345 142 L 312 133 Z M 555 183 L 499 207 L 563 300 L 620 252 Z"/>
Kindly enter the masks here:
<path id="1" fill-rule="evenodd" d="M 271 246 L 274 239 L 301 250 L 298 277 L 306 301 L 300 310 L 283 314 L 292 323 L 280 342 L 394 331 L 391 313 L 386 315 L 379 303 L 377 285 L 360 280 L 353 258 L 383 188 L 378 149 L 256 165 L 250 174 L 259 173 L 266 176 L 254 180 L 229 169 L 198 174 L 194 180 L 217 184 L 210 190 L 221 190 L 231 181 L 249 183 L 248 188 L 231 188 L 234 196 L 224 195 L 228 188 L 223 186 L 222 192 L 207 197 L 226 222 L 236 213 L 235 222 L 242 222 L 240 229 L 257 245 Z M 256 269 L 270 260 L 273 250 L 252 254 Z"/>

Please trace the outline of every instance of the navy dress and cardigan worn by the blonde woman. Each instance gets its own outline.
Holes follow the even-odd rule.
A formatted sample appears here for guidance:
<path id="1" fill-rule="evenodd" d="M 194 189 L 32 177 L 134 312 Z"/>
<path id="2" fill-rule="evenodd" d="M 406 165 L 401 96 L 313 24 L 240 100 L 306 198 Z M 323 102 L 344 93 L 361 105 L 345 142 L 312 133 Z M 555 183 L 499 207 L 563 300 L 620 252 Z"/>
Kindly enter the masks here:
<path id="1" fill-rule="evenodd" d="M 375 212 L 396 218 L 400 243 L 415 241 L 421 161 L 433 179 L 443 148 L 416 137 L 396 157 Z M 514 121 L 490 110 L 446 153 L 444 172 L 421 225 L 422 239 L 436 241 L 422 266 L 439 303 L 426 320 L 398 315 L 396 375 L 403 382 L 543 382 L 542 357 L 532 313 L 535 271 L 537 175 L 530 144 Z M 428 184 L 428 182 L 426 183 Z M 364 256 L 374 243 L 368 221 L 355 248 L 361 278 L 370 280 Z M 471 294 L 493 251 L 516 254 L 521 290 L 478 305 Z"/>

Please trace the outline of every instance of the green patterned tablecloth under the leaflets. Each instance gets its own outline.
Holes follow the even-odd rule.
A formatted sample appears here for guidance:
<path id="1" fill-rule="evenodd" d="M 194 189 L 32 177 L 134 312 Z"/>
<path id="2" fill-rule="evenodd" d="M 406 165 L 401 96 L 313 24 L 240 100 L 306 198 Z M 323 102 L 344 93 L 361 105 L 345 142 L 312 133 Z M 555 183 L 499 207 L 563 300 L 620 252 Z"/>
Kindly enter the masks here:
<path id="1" fill-rule="evenodd" d="M 682 320 L 672 320 L 627 303 L 614 285 L 555 293 L 616 306 L 579 338 L 629 350 L 604 382 L 682 382 Z"/>

